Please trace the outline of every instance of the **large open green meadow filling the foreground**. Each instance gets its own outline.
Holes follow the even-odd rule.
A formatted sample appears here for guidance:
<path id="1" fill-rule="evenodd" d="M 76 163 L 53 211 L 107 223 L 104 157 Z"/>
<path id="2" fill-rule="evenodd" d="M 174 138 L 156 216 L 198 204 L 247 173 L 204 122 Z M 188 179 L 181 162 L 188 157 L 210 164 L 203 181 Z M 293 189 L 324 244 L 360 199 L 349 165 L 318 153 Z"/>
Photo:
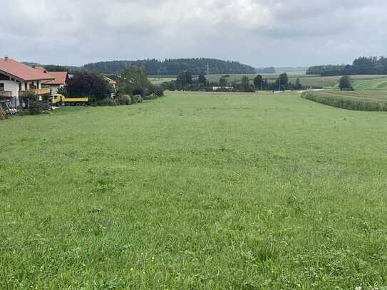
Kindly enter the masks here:
<path id="1" fill-rule="evenodd" d="M 0 289 L 384 289 L 386 120 L 167 93 L 1 121 Z"/>

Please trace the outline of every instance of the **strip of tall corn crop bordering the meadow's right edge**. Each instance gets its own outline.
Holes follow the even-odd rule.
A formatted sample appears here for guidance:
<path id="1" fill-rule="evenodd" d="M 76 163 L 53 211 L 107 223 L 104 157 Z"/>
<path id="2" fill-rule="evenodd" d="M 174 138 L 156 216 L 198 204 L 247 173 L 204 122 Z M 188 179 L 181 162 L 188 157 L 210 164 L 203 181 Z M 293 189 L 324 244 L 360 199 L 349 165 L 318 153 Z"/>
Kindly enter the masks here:
<path id="1" fill-rule="evenodd" d="M 346 110 L 386 111 L 387 93 L 379 92 L 348 92 L 348 91 L 308 91 L 302 98 L 316 103 L 331 105 Z"/>

